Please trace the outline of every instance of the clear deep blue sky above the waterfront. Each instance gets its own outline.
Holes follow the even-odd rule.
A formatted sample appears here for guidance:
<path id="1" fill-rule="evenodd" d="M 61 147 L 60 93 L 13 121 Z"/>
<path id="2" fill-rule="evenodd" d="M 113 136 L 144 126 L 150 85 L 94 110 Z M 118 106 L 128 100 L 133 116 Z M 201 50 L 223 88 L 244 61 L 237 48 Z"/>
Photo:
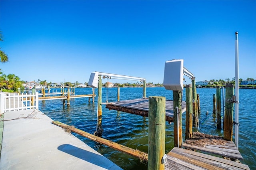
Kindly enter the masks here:
<path id="1" fill-rule="evenodd" d="M 236 31 L 239 78 L 256 79 L 255 0 L 0 0 L 0 30 L 0 68 L 24 81 L 84 83 L 100 71 L 163 83 L 172 59 L 196 81 L 232 79 Z"/>

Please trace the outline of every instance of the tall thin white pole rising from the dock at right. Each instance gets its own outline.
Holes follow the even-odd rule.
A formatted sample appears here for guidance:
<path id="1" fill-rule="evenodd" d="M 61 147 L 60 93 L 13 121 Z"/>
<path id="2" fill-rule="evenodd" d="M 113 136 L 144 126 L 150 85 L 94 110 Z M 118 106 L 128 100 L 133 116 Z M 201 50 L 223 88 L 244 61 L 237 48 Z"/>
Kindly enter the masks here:
<path id="1" fill-rule="evenodd" d="M 236 57 L 236 86 L 235 86 L 235 90 L 236 90 L 236 101 L 239 101 L 239 93 L 238 93 L 238 89 L 239 89 L 239 82 L 238 82 L 238 71 L 239 71 L 239 66 L 238 66 L 238 32 L 235 33 L 236 34 L 236 41 L 235 41 L 235 57 Z M 236 102 L 235 103 L 235 144 L 236 147 L 238 149 L 238 128 L 239 128 L 239 122 L 238 122 L 238 105 L 239 103 Z"/>

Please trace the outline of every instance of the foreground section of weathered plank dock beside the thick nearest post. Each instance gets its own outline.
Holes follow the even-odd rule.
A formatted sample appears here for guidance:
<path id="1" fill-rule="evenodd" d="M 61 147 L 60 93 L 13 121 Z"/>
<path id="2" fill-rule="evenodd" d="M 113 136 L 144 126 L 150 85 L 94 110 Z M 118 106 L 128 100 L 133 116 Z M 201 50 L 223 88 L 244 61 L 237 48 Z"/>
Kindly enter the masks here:
<path id="1" fill-rule="evenodd" d="M 174 147 L 167 157 L 166 170 L 250 170 L 246 164 L 177 147 Z"/>

